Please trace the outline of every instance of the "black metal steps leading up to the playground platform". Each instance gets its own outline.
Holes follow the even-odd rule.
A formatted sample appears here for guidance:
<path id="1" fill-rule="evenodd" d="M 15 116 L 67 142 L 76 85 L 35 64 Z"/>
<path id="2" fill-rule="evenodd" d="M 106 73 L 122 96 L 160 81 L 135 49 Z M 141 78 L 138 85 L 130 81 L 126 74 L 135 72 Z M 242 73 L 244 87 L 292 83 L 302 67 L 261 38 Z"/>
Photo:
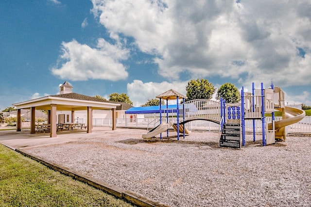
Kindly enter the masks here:
<path id="1" fill-rule="evenodd" d="M 241 148 L 241 125 L 238 123 L 226 123 L 223 126 L 219 140 L 219 146 Z"/>

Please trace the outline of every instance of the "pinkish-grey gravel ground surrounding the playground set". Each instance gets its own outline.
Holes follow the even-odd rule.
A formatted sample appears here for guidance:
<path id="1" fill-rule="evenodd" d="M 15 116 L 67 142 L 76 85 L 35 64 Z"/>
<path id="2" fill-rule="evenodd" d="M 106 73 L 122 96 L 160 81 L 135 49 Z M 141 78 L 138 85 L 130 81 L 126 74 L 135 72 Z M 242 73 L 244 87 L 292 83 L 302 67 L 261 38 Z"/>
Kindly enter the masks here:
<path id="1" fill-rule="evenodd" d="M 144 141 L 144 130 L 26 148 L 41 158 L 172 207 L 311 206 L 311 138 L 219 148 L 218 133 Z M 258 139 L 260 139 L 260 135 Z"/>

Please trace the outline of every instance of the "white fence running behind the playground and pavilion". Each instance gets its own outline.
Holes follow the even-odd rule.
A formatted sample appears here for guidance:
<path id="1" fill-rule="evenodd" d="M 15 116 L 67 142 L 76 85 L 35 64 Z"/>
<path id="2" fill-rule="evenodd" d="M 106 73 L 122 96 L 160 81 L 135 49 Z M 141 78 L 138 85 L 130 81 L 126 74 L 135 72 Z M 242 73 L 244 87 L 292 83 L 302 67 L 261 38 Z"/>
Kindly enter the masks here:
<path id="1" fill-rule="evenodd" d="M 169 121 L 176 123 L 175 118 L 170 118 Z M 280 120 L 281 117 L 276 117 L 276 121 Z M 77 122 L 85 123 L 86 119 L 78 119 Z M 271 122 L 271 117 L 266 117 L 266 122 Z M 127 128 L 145 128 L 152 129 L 159 125 L 159 121 L 154 118 L 135 118 L 135 119 L 117 119 L 117 127 L 127 127 Z M 112 119 L 93 119 L 93 126 L 102 126 L 102 127 L 112 127 Z M 189 130 L 206 130 L 206 131 L 219 131 L 219 125 L 213 122 L 208 122 L 204 120 L 196 120 L 188 122 L 186 127 Z M 261 132 L 261 120 L 255 120 L 256 132 Z M 253 131 L 253 120 L 245 120 L 245 131 Z M 293 133 L 311 133 L 311 116 L 304 117 L 301 121 L 289 125 L 286 127 L 287 132 Z"/>

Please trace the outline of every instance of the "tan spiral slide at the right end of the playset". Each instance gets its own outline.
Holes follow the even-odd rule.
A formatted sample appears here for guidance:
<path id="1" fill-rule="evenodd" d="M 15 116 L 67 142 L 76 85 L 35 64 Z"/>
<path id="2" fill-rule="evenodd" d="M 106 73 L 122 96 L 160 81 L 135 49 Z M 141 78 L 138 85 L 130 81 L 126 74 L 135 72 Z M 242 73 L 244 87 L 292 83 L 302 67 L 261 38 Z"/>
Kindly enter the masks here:
<path id="1" fill-rule="evenodd" d="M 285 127 L 299 122 L 306 116 L 306 112 L 301 109 L 285 106 L 284 108 L 276 108 L 282 111 L 283 119 L 275 122 L 276 139 L 286 139 Z M 268 129 L 272 130 L 272 123 L 268 124 Z"/>

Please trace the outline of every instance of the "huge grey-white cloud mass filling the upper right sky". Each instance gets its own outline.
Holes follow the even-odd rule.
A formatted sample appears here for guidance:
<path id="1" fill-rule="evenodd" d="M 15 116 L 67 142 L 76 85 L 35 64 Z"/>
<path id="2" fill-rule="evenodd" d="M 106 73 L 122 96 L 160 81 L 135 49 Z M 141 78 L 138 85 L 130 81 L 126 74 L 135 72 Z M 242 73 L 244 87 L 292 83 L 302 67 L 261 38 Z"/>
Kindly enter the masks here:
<path id="1" fill-rule="evenodd" d="M 311 84 L 309 0 L 92 2 L 111 37 L 131 36 L 141 51 L 156 54 L 159 74 L 168 80 L 186 71 L 190 78 Z"/>

